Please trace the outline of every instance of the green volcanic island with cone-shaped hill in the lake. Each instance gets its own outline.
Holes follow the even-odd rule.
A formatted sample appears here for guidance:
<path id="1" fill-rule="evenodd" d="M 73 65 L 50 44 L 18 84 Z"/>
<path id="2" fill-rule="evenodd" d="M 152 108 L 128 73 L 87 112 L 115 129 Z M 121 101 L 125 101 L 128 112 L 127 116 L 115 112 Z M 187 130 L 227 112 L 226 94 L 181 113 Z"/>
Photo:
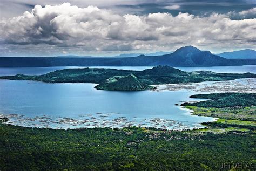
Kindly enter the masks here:
<path id="1" fill-rule="evenodd" d="M 143 71 L 117 69 L 64 69 L 40 76 L 2 76 L 0 79 L 33 80 L 46 83 L 96 83 L 101 90 L 136 91 L 149 90 L 157 84 L 199 83 L 202 81 L 223 81 L 238 78 L 255 78 L 256 74 L 215 73 L 211 71 L 185 72 L 170 66 L 156 66 Z"/>

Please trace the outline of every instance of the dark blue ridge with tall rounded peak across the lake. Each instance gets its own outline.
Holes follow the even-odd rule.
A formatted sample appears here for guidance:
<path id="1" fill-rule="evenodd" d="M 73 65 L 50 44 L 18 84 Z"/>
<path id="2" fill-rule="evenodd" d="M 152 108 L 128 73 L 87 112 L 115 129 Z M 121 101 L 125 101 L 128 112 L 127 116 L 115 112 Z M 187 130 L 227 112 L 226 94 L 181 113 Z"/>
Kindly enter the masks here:
<path id="1" fill-rule="evenodd" d="M 43 66 L 230 66 L 256 65 L 256 59 L 226 59 L 210 51 L 185 46 L 170 54 L 137 57 L 1 57 L 0 67 Z"/>

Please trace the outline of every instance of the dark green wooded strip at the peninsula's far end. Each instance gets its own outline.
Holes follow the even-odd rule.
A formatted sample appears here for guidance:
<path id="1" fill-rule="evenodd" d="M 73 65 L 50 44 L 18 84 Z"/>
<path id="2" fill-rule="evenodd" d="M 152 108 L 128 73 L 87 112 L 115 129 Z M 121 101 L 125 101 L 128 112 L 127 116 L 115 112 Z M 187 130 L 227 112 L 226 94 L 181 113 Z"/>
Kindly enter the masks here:
<path id="1" fill-rule="evenodd" d="M 195 103 L 184 103 L 181 106 L 197 107 L 246 107 L 256 106 L 256 93 L 213 93 L 191 95 L 190 98 L 211 99 Z"/>

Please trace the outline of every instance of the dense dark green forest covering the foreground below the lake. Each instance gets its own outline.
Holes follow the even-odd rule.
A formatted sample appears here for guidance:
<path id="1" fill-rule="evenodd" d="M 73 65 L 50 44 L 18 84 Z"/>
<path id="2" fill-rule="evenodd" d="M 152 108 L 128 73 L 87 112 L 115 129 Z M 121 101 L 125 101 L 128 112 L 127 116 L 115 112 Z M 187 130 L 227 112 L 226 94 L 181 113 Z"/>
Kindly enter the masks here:
<path id="1" fill-rule="evenodd" d="M 253 132 L 38 129 L 0 124 L 0 170 L 220 169 L 255 162 Z"/>

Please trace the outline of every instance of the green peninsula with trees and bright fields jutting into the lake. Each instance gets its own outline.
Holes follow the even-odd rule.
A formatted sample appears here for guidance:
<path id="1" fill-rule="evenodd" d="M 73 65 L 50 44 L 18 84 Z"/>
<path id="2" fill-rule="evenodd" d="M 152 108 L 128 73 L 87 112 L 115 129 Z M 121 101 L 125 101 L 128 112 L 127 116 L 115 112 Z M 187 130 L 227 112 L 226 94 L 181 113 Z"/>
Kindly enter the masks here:
<path id="1" fill-rule="evenodd" d="M 220 118 L 215 122 L 203 123 L 210 128 L 205 132 L 253 131 L 256 129 L 255 93 L 212 93 L 196 94 L 191 98 L 211 100 L 196 103 L 184 103 L 192 114 Z M 209 106 L 209 107 L 207 107 Z"/>

